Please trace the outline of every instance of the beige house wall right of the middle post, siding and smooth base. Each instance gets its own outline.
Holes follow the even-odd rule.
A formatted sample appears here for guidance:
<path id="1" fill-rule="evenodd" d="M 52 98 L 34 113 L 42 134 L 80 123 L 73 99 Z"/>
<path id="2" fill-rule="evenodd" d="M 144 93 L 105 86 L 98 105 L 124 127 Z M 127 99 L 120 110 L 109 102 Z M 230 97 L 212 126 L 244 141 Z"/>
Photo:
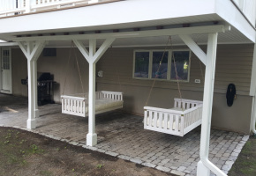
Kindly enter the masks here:
<path id="1" fill-rule="evenodd" d="M 206 50 L 206 46 L 201 48 Z M 103 71 L 103 77 L 97 77 L 97 88 L 124 92 L 124 111 L 143 114 L 143 106 L 153 81 L 132 78 L 134 49 L 140 48 L 111 48 L 102 56 L 96 67 L 97 70 Z M 212 125 L 216 128 L 249 133 L 253 45 L 220 45 L 217 50 Z M 204 69 L 204 65 L 192 54 L 190 82 L 180 83 L 184 99 L 203 99 Z M 201 84 L 195 84 L 194 79 L 201 79 Z M 225 97 L 230 83 L 237 86 L 237 99 L 231 107 L 227 106 Z M 176 82 L 156 81 L 148 106 L 172 107 L 176 97 L 179 97 Z"/>

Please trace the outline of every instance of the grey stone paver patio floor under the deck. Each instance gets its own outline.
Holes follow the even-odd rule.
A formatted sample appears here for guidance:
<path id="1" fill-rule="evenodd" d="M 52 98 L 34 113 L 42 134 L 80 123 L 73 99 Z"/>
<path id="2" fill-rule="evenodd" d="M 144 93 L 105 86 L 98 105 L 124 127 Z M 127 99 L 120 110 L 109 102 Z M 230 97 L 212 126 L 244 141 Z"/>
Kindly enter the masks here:
<path id="1" fill-rule="evenodd" d="M 142 117 L 119 111 L 96 115 L 98 144 L 86 145 L 88 119 L 61 114 L 61 105 L 39 106 L 37 128 L 43 136 L 97 150 L 117 158 L 177 175 L 196 175 L 200 160 L 200 128 L 184 137 L 143 128 Z M 27 99 L 0 94 L 0 126 L 26 129 Z M 211 130 L 209 159 L 228 173 L 248 135 Z M 214 174 L 212 174 L 214 175 Z"/>

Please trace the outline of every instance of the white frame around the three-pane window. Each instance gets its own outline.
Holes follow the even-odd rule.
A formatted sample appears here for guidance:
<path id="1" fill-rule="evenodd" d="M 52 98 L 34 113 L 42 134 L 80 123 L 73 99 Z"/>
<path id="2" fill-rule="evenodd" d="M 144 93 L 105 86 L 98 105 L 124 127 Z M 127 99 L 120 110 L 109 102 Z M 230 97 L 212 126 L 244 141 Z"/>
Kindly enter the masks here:
<path id="1" fill-rule="evenodd" d="M 152 66 L 153 66 L 153 52 L 164 52 L 164 49 L 136 49 L 133 50 L 133 69 L 132 69 L 132 78 L 134 79 L 141 79 L 141 80 L 157 80 L 157 81 L 170 81 L 170 82 L 177 82 L 176 79 L 170 78 L 171 73 L 171 59 L 172 59 L 172 52 L 175 51 L 189 51 L 189 66 L 188 66 L 188 76 L 187 80 L 178 80 L 178 82 L 189 83 L 190 82 L 190 70 L 191 70 L 191 55 L 192 52 L 190 49 L 168 49 L 165 52 L 168 52 L 168 72 L 166 79 L 159 79 L 152 77 Z M 136 52 L 148 52 L 149 53 L 149 64 L 148 64 L 148 77 L 134 77 L 135 72 L 135 53 Z"/>

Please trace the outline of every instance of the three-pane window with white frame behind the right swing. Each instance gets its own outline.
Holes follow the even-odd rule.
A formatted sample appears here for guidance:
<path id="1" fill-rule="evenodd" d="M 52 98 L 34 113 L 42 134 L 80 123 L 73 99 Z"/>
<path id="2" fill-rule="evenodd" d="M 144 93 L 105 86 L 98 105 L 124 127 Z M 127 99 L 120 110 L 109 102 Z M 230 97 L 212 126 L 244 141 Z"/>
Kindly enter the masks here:
<path id="1" fill-rule="evenodd" d="M 134 51 L 133 77 L 189 82 L 189 50 L 137 50 Z"/>

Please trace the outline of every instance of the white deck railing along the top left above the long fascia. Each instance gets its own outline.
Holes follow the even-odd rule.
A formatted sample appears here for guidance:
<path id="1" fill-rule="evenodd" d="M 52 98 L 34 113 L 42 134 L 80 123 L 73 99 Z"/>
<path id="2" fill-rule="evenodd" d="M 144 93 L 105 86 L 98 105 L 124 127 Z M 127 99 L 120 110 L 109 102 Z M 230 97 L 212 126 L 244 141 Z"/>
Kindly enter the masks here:
<path id="1" fill-rule="evenodd" d="M 109 1 L 112 0 L 0 0 L 0 18 L 35 11 L 50 11 L 81 4 Z"/>

